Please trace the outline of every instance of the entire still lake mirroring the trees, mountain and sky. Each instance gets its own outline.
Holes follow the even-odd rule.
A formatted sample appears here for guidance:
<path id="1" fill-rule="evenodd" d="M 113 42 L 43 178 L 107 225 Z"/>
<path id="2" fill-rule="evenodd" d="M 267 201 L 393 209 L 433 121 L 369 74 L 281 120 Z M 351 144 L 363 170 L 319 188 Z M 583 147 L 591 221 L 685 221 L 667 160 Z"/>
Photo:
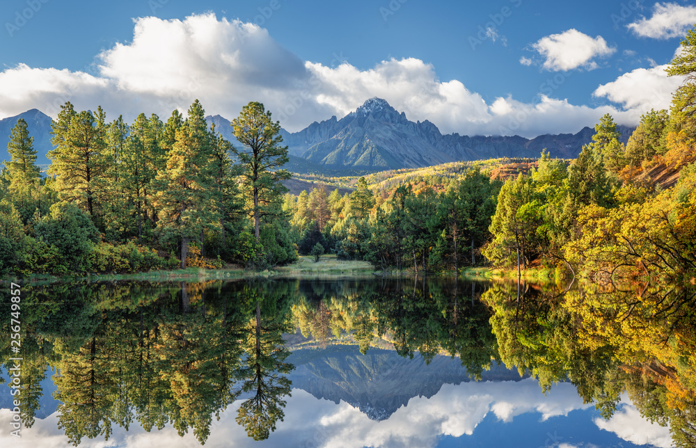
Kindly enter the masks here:
<path id="1" fill-rule="evenodd" d="M 696 440 L 693 287 L 374 277 L 21 285 L 15 351 L 13 308 L 0 307 L 3 447 Z"/>

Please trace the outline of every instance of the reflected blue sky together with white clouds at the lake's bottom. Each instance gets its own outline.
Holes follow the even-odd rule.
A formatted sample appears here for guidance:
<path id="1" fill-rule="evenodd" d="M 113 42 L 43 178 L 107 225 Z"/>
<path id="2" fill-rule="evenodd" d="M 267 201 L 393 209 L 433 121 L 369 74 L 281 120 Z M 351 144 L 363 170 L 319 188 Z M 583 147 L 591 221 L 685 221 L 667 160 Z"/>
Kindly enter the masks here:
<path id="1" fill-rule="evenodd" d="M 205 447 L 670 447 L 669 430 L 640 417 L 624 397 L 617 413 L 608 421 L 583 404 L 569 383 L 541 393 L 537 381 L 484 381 L 445 384 L 433 397 L 414 397 L 406 406 L 381 422 L 358 408 L 340 401 L 317 399 L 301 389 L 287 398 L 285 419 L 268 440 L 255 442 L 235 422 L 236 401 L 213 421 Z M 8 422 L 8 410 L 0 411 L 0 422 Z M 36 419 L 22 438 L 0 425 L 0 446 L 68 447 L 68 439 L 57 427 L 54 413 Z M 114 428 L 109 440 L 84 439 L 80 447 L 200 447 L 188 433 L 180 438 L 167 426 L 147 433 L 141 427 L 125 431 Z"/>

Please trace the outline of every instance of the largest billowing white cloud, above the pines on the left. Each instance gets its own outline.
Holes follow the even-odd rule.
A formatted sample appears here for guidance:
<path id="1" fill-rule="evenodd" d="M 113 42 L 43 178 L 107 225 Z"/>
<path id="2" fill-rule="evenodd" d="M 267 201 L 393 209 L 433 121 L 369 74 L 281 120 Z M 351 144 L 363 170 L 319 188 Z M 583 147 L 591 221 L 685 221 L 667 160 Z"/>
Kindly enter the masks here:
<path id="1" fill-rule="evenodd" d="M 136 19 L 132 41 L 97 55 L 97 70 L 86 74 L 18 65 L 0 72 L 0 115 L 35 107 L 55 118 L 60 105 L 70 101 L 77 109 L 102 104 L 107 118 L 122 113 L 132 120 L 154 112 L 166 120 L 173 109 L 186 111 L 198 98 L 209 113 L 231 119 L 253 100 L 278 110 L 310 81 L 305 63 L 265 29 L 213 14 Z M 331 112 L 312 106 L 306 111 L 322 118 Z M 288 123 L 290 128 L 307 124 Z"/>

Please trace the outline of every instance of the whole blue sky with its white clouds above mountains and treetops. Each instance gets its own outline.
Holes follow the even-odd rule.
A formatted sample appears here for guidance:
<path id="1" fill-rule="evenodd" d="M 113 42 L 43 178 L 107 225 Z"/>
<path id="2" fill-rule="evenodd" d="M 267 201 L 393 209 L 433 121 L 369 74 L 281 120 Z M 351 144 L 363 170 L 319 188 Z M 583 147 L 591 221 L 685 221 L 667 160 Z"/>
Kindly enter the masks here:
<path id="1" fill-rule="evenodd" d="M 377 96 L 443 133 L 576 132 L 667 108 L 684 1 L 6 0 L 0 118 L 69 100 L 166 119 L 261 101 L 290 131 Z"/>

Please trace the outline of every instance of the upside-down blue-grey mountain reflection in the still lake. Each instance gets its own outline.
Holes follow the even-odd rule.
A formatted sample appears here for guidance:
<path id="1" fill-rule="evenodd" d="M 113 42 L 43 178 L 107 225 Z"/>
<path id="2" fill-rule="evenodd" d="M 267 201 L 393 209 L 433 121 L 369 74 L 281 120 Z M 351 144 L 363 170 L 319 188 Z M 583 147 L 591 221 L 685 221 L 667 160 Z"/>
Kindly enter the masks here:
<path id="1" fill-rule="evenodd" d="M 288 358 L 295 365 L 292 387 L 319 399 L 345 401 L 373 420 L 384 420 L 413 397 L 430 398 L 444 384 L 473 381 L 459 358 L 436 356 L 427 365 L 395 351 L 370 349 L 362 355 L 356 346 L 298 350 Z M 519 381 L 517 371 L 493 365 L 482 381 Z"/>

